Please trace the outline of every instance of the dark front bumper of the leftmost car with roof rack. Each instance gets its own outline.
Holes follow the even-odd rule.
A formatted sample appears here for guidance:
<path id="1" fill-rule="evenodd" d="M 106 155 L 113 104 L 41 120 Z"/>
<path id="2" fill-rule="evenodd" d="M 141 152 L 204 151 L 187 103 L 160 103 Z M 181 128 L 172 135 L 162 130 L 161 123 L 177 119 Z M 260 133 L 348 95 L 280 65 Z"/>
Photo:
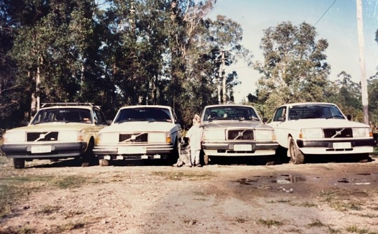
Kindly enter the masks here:
<path id="1" fill-rule="evenodd" d="M 34 152 L 36 147 L 50 147 L 50 152 Z M 56 144 L 4 144 L 1 151 L 8 158 L 48 159 L 48 158 L 76 158 L 87 149 L 86 142 L 56 143 Z"/>

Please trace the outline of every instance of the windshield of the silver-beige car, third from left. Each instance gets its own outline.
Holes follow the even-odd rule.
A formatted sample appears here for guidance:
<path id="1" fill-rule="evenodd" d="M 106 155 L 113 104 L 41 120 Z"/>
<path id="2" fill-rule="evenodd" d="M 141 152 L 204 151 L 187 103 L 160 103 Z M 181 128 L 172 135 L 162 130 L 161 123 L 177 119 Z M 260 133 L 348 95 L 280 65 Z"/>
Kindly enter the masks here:
<path id="1" fill-rule="evenodd" d="M 207 108 L 204 113 L 204 121 L 238 120 L 260 121 L 253 108 L 246 106 L 216 106 Z"/>

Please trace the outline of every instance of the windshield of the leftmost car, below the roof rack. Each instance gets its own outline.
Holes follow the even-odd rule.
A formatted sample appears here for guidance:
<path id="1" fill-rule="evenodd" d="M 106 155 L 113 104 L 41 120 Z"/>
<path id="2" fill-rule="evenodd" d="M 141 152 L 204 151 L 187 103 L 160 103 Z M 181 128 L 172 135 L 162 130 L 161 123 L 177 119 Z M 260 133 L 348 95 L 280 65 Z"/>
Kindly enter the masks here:
<path id="1" fill-rule="evenodd" d="M 38 111 L 31 124 L 51 122 L 93 123 L 89 109 L 53 108 Z"/>

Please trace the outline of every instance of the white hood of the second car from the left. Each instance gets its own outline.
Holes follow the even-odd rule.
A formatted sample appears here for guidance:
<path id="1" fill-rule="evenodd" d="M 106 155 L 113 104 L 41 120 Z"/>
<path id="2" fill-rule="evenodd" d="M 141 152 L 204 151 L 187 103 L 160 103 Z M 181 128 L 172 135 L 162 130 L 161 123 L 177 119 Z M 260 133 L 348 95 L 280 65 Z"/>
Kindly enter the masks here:
<path id="1" fill-rule="evenodd" d="M 113 123 L 103 128 L 100 132 L 172 132 L 179 130 L 174 123 L 168 122 L 125 122 Z"/>

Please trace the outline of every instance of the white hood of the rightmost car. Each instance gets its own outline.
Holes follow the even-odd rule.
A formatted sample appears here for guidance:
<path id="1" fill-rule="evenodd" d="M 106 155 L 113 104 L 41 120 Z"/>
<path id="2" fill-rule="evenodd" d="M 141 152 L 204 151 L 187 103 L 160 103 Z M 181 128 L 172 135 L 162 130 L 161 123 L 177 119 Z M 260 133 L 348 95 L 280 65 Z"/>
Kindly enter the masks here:
<path id="1" fill-rule="evenodd" d="M 296 121 L 282 122 L 281 125 L 288 125 L 290 128 L 369 128 L 365 123 L 347 121 L 345 119 L 300 119 Z"/>

